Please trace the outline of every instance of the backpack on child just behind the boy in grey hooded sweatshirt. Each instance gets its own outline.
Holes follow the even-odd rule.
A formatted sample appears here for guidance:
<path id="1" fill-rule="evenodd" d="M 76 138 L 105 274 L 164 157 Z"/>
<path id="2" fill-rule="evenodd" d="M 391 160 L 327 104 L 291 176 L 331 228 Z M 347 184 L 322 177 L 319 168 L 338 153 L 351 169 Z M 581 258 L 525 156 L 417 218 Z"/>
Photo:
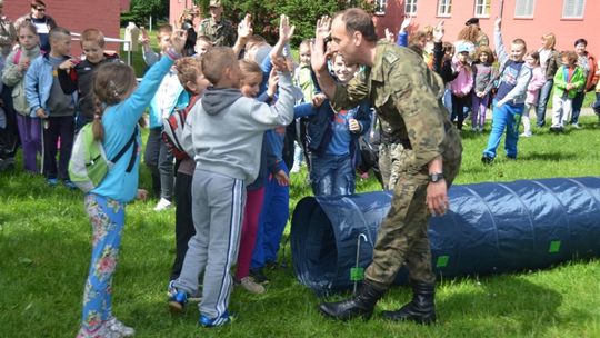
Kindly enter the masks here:
<path id="1" fill-rule="evenodd" d="M 167 148 L 171 151 L 173 157 L 180 161 L 189 157 L 181 143 L 183 139 L 183 127 L 186 127 L 188 113 L 199 99 L 200 96 L 192 97 L 188 107 L 184 109 L 176 109 L 173 113 L 163 119 L 162 140 L 167 143 Z"/>

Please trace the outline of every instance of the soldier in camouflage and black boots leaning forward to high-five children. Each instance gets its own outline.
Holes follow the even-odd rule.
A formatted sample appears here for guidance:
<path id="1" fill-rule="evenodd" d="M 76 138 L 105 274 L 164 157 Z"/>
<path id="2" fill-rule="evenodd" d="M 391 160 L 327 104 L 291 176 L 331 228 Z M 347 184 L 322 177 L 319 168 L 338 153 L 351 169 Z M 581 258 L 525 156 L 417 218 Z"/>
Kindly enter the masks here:
<path id="1" fill-rule="evenodd" d="M 397 311 L 383 312 L 383 317 L 429 324 L 436 320 L 436 277 L 427 238 L 428 220 L 448 209 L 447 190 L 462 155 L 460 135 L 440 100 L 443 82 L 410 49 L 378 42 L 367 12 L 348 9 L 331 22 L 330 51 L 366 68 L 348 84 L 336 84 L 326 67 L 324 37 L 330 21 L 323 18 L 318 22 L 311 60 L 322 91 L 336 110 L 369 99 L 379 118 L 394 130 L 403 150 L 391 208 L 379 228 L 373 261 L 367 268 L 361 291 L 344 301 L 323 302 L 319 309 L 337 319 L 370 317 L 406 264 L 413 299 Z"/>

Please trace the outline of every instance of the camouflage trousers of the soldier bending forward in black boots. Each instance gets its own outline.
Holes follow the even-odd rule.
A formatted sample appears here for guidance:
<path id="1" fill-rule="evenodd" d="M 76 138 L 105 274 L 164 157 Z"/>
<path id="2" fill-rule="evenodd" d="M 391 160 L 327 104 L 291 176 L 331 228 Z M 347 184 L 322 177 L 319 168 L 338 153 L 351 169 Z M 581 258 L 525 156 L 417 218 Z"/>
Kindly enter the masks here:
<path id="1" fill-rule="evenodd" d="M 447 132 L 452 147 L 444 149 L 443 173 L 448 188 L 457 177 L 462 157 L 460 135 L 456 128 Z M 402 151 L 407 163 L 412 150 Z M 431 267 L 431 248 L 427 237 L 431 215 L 427 208 L 427 187 L 429 170 L 427 166 L 414 168 L 401 166 L 398 182 L 393 189 L 391 208 L 383 219 L 373 248 L 373 261 L 367 268 L 366 278 L 388 287 L 406 264 L 411 280 L 432 284 L 436 276 Z"/>

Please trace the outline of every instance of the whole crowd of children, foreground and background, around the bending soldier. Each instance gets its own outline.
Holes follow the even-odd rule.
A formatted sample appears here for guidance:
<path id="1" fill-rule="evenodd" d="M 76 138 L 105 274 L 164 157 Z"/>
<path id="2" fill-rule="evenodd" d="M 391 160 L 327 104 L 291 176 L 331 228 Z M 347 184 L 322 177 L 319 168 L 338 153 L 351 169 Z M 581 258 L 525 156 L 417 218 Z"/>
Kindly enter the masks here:
<path id="1" fill-rule="evenodd" d="M 221 3 L 210 1 L 210 6 Z M 521 39 L 514 39 L 507 51 L 498 19 L 496 51 L 472 20 L 457 43 L 442 41 L 442 22 L 413 33 L 409 44 L 410 20 L 402 23 L 398 43 L 417 51 L 440 74 L 447 86 L 444 103 L 458 129 L 463 128 L 466 111 L 470 111 L 472 130 L 482 132 L 491 108 L 491 132 L 481 159 L 484 163 L 493 162 L 504 132 L 507 156 L 517 159 L 519 136 L 532 136 L 529 113 L 533 108 L 538 126 L 543 125 L 540 107 L 546 109 L 550 89 L 550 129 L 556 132 L 562 131 L 569 119 L 579 128 L 577 109 L 581 109 L 586 90 L 596 89 L 597 98 L 600 95 L 598 67 L 584 50 L 584 40 L 576 42 L 577 52 L 559 54 L 553 50 L 553 34 L 543 37 L 539 51 L 528 53 Z M 48 51 L 40 49 L 34 23 L 26 20 L 16 32 L 18 44 L 2 59 L 2 82 L 12 88 L 24 170 L 32 175 L 41 171 L 49 186 L 61 181 L 74 189 L 68 165 L 76 132 L 87 123 L 92 123 L 94 139 L 102 142 L 108 158 L 122 151 L 130 155 L 118 160 L 84 197 L 92 223 L 92 257 L 78 337 L 134 334 L 112 316 L 111 281 L 124 207 L 140 192 L 138 126 L 143 127 L 147 108 L 149 132 L 143 155 L 152 191 L 159 198 L 154 210 L 176 206 L 176 257 L 168 302 L 171 310 L 181 311 L 189 300 L 201 299 L 199 321 L 206 327 L 230 320 L 229 297 L 236 284 L 253 294 L 267 290 L 263 269 L 277 264 L 289 218 L 288 169 L 296 172 L 300 168 L 298 162 L 292 167 L 288 152 L 304 155 L 316 196 L 351 195 L 361 161 L 359 143 L 368 142 L 369 131 L 381 133 L 382 161 L 398 160 L 397 152 L 404 146 L 389 147 L 396 143 L 393 130 L 373 117 L 367 102 L 349 110 L 331 107 L 310 67 L 312 42 L 300 43 L 299 66 L 291 60 L 293 26 L 286 16 L 273 47 L 253 34 L 248 16 L 238 26 L 232 48 L 214 47 L 211 38 L 202 34 L 193 48 L 186 48 L 187 33 L 161 26 L 157 53 L 143 32 L 148 69 L 139 86 L 132 69 L 104 51 L 104 37 L 97 29 L 81 33 L 81 59 L 70 56 L 71 37 L 64 28 L 53 27 L 48 32 Z M 389 31 L 387 39 L 393 40 Z M 330 71 L 344 84 L 361 69 L 333 53 Z M 166 136 L 166 123 L 171 123 L 173 115 L 183 128 L 180 145 Z M 384 187 L 393 189 L 391 171 L 384 177 Z"/>

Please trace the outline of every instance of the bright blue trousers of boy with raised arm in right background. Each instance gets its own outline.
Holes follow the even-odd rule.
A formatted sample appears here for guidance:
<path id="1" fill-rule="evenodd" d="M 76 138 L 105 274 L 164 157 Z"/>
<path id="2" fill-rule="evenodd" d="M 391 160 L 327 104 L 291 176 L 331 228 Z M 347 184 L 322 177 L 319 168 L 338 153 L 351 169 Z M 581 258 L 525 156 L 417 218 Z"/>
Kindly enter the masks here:
<path id="1" fill-rule="evenodd" d="M 509 158 L 517 158 L 517 142 L 519 141 L 519 125 L 521 123 L 521 113 L 524 105 L 504 103 L 502 107 L 496 107 L 497 100 L 493 101 L 492 130 L 488 139 L 488 146 L 483 151 L 483 156 L 496 158 L 496 150 L 500 146 L 500 139 L 504 129 L 507 138 L 504 140 L 504 150 Z"/>

